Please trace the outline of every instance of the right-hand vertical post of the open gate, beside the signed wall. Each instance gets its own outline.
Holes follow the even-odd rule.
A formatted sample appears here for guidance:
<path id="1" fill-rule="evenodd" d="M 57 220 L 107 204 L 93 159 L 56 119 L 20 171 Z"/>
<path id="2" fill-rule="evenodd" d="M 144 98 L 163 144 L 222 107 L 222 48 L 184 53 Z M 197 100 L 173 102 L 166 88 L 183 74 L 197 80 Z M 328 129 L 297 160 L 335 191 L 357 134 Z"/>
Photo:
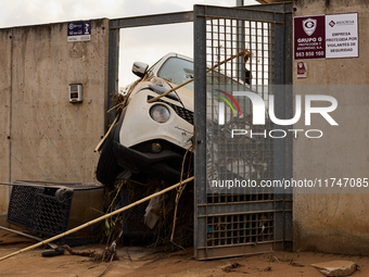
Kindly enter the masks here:
<path id="1" fill-rule="evenodd" d="M 276 87 L 275 112 L 278 118 L 292 118 L 292 14 L 283 4 L 283 25 L 276 26 Z M 292 126 L 275 126 L 276 129 L 292 129 Z M 292 136 L 275 142 L 275 179 L 292 178 Z M 276 240 L 283 241 L 283 249 L 292 241 L 292 192 L 276 190 Z"/>

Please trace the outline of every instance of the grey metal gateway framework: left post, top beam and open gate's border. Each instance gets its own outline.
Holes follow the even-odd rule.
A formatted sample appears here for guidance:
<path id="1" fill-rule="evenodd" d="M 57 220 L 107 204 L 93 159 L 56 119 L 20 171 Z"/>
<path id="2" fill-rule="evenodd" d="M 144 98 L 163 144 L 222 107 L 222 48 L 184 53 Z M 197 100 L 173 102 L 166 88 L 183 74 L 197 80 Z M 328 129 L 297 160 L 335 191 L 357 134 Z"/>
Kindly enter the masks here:
<path id="1" fill-rule="evenodd" d="M 206 7 L 208 7 L 206 9 Z M 187 23 L 193 22 L 193 36 L 194 36 L 194 61 L 203 61 L 200 66 L 194 66 L 195 80 L 194 91 L 206 91 L 205 78 L 201 80 L 201 74 L 206 71 L 206 61 L 204 62 L 206 46 L 201 41 L 205 41 L 205 16 L 208 15 L 206 12 L 217 11 L 221 15 L 222 9 L 232 9 L 236 13 L 243 12 L 247 14 L 247 20 L 262 20 L 260 14 L 268 14 L 271 21 L 277 20 L 280 24 L 276 25 L 276 53 L 283 53 L 280 56 L 276 55 L 275 63 L 275 79 L 276 85 L 292 85 L 292 3 L 277 3 L 277 4 L 263 4 L 263 5 L 247 5 L 247 7 L 236 7 L 236 8 L 221 8 L 211 5 L 194 5 L 193 11 L 188 12 L 176 12 L 176 13 L 163 13 L 144 16 L 123 17 L 110 20 L 109 27 L 109 76 L 107 76 L 107 108 L 106 111 L 114 106 L 114 102 L 111 95 L 118 91 L 118 67 L 119 67 L 119 29 L 131 28 L 131 27 L 144 27 L 153 25 L 175 24 L 175 23 Z M 240 18 L 246 20 L 246 18 Z M 281 47 L 284 46 L 284 47 Z M 279 49 L 280 47 L 280 49 Z M 278 67 L 277 67 L 278 66 Z M 203 76 L 204 77 L 204 76 Z M 292 91 L 288 93 L 280 93 L 281 97 L 276 99 L 276 104 L 281 105 L 281 113 L 277 112 L 277 116 L 280 118 L 291 118 L 292 115 Z M 241 252 L 229 255 L 228 253 L 218 256 L 207 256 L 204 252 L 199 251 L 202 242 L 206 241 L 206 232 L 199 234 L 199 225 L 204 224 L 199 221 L 199 215 L 204 209 L 199 209 L 199 204 L 202 203 L 202 199 L 206 200 L 205 187 L 201 184 L 206 182 L 206 114 L 202 113 L 201 106 L 206 105 L 206 93 L 205 97 L 200 93 L 194 93 L 194 126 L 195 128 L 195 151 L 194 151 L 194 254 L 198 260 L 214 259 L 221 256 L 234 256 L 255 253 L 252 247 L 241 249 Z M 289 108 L 289 109 L 287 109 Z M 290 109 L 291 108 L 291 109 Z M 107 114 L 106 126 L 112 124 L 114 121 L 114 114 Z M 200 128 L 202 126 L 203 128 Z M 287 126 L 287 128 L 290 126 Z M 283 177 L 292 177 L 292 138 L 283 141 L 278 141 L 275 144 L 276 161 L 279 162 L 280 168 L 276 168 L 276 177 L 278 174 Z M 205 198 L 204 198 L 205 196 Z M 280 238 L 281 247 L 285 249 L 287 242 L 292 241 L 292 194 L 279 194 L 280 201 L 278 202 L 279 209 L 284 211 L 284 218 L 282 223 L 282 237 Z M 276 206 L 277 209 L 277 206 Z M 206 226 L 206 225 L 205 225 Z M 199 236 L 202 235 L 202 236 Z M 205 236 L 205 239 L 204 239 Z M 250 251 L 250 252 L 245 252 Z M 263 251 L 265 252 L 265 251 Z"/>

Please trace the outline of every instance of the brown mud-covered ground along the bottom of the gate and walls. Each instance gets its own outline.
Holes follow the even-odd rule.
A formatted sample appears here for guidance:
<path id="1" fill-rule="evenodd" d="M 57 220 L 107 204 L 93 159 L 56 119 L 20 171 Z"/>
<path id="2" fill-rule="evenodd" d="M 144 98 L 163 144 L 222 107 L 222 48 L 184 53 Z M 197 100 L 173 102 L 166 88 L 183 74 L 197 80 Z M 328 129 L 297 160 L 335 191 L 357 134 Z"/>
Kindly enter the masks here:
<path id="1" fill-rule="evenodd" d="M 0 256 L 8 255 L 34 244 L 33 240 L 0 231 Z M 76 251 L 94 251 L 102 254 L 105 245 L 74 248 Z M 98 277 L 109 263 L 92 257 L 64 255 L 42 257 L 44 248 L 34 249 L 0 262 L 0 276 L 71 276 Z M 272 252 L 267 254 L 195 261 L 193 249 L 175 253 L 157 252 L 145 247 L 118 247 L 118 261 L 113 261 L 103 276 L 266 276 L 266 277 L 319 277 L 323 276 L 310 264 L 336 260 L 357 263 L 358 270 L 352 276 L 369 276 L 368 256 L 333 255 L 313 252 Z"/>

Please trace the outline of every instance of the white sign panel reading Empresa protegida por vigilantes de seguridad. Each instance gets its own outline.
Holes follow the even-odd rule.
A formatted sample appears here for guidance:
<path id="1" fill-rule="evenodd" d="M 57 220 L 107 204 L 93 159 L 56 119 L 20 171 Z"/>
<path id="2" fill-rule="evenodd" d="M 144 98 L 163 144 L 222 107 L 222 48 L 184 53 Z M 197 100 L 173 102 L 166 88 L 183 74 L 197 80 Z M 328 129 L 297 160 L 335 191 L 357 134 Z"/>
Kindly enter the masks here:
<path id="1" fill-rule="evenodd" d="M 357 13 L 326 15 L 326 58 L 359 56 Z"/>

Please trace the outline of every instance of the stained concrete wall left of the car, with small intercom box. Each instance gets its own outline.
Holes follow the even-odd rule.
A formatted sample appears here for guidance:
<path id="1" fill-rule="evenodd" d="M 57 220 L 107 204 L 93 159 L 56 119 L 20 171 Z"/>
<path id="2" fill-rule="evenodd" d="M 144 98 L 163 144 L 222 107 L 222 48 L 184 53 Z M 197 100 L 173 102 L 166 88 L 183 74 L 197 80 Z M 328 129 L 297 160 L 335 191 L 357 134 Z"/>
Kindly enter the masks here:
<path id="1" fill-rule="evenodd" d="M 67 42 L 67 23 L 0 29 L 0 181 L 96 181 L 107 100 L 109 20 Z M 69 84 L 84 102 L 69 103 Z M 0 213 L 9 188 L 0 187 Z"/>

